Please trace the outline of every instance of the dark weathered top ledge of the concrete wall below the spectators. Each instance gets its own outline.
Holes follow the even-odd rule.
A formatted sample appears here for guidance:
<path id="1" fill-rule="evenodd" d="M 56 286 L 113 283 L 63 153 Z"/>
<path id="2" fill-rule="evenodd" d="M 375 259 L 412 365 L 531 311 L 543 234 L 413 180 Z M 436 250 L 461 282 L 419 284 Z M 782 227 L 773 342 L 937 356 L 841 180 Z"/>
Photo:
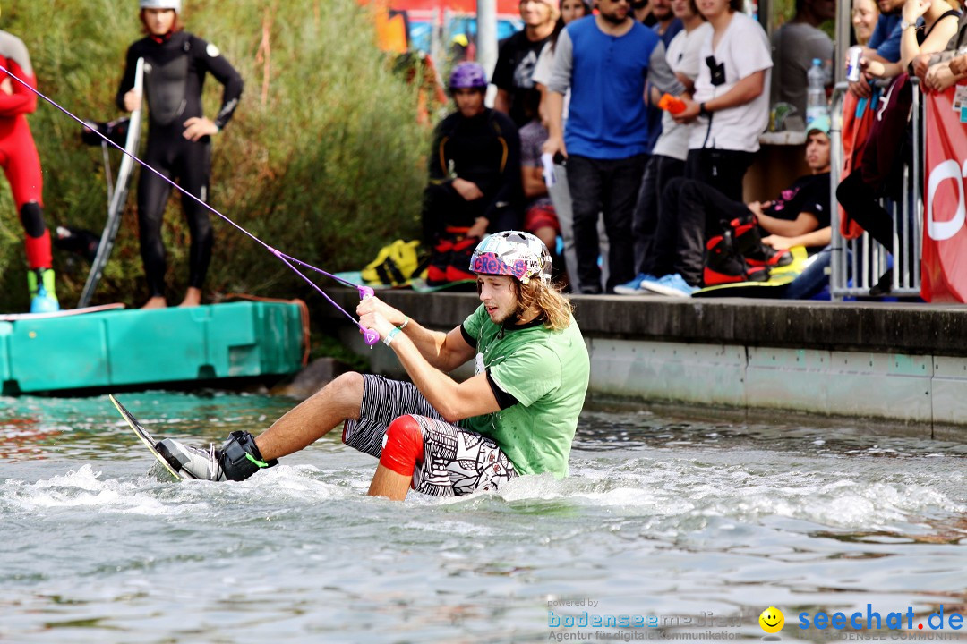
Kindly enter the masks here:
<path id="1" fill-rule="evenodd" d="M 334 289 L 330 294 L 350 311 L 358 302 L 355 291 Z M 379 296 L 440 328 L 462 322 L 479 303 L 475 294 L 383 291 Z M 581 330 L 590 337 L 967 356 L 964 306 L 618 295 L 575 295 L 571 301 Z M 313 313 L 340 317 L 327 305 Z"/>

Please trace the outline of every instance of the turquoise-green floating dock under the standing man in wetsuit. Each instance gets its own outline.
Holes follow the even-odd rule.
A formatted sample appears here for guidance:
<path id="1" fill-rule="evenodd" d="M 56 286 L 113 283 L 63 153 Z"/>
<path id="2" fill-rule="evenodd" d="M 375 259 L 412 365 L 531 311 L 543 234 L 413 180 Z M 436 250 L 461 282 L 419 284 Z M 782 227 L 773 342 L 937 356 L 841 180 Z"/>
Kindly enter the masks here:
<path id="1" fill-rule="evenodd" d="M 307 322 L 308 323 L 308 322 Z M 3 395 L 297 372 L 301 307 L 232 302 L 0 322 Z"/>

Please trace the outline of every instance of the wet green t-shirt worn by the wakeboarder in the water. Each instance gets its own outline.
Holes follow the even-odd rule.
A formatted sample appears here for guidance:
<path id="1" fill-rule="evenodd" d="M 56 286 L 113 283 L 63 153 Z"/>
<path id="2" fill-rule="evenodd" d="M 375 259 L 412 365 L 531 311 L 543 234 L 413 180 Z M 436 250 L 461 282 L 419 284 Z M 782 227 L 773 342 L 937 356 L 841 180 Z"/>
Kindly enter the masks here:
<path id="1" fill-rule="evenodd" d="M 477 373 L 486 370 L 517 399 L 517 405 L 467 418 L 464 426 L 493 438 L 518 474 L 567 476 L 591 371 L 577 322 L 571 317 L 563 331 L 541 323 L 504 326 L 491 322 L 482 304 L 463 330 L 477 340 Z"/>

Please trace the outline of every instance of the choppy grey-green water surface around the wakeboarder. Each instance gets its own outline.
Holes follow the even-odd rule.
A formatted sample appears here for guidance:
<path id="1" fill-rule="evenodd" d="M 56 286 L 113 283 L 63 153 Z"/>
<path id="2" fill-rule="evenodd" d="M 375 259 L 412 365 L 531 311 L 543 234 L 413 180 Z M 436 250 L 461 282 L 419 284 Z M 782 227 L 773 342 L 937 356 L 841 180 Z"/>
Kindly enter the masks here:
<path id="1" fill-rule="evenodd" d="M 197 442 L 291 405 L 121 400 Z M 0 641 L 759 639 L 770 605 L 783 639 L 828 641 L 797 615 L 867 603 L 913 609 L 895 640 L 967 612 L 963 445 L 663 413 L 586 412 L 564 481 L 400 505 L 336 433 L 243 484 L 172 483 L 106 398 L 0 399 Z M 548 627 L 585 612 L 659 627 Z"/>

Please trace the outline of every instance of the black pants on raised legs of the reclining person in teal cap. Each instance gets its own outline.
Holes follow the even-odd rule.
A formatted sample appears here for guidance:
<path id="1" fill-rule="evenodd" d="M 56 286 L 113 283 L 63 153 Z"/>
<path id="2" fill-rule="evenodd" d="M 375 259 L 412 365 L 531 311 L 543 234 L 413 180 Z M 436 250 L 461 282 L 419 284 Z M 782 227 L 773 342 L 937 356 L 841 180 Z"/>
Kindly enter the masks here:
<path id="1" fill-rule="evenodd" d="M 718 235 L 722 221 L 748 214 L 741 201 L 692 179 L 673 179 L 661 192 L 655 231 L 653 275 L 680 274 L 691 286 L 701 286 L 705 241 Z"/>

